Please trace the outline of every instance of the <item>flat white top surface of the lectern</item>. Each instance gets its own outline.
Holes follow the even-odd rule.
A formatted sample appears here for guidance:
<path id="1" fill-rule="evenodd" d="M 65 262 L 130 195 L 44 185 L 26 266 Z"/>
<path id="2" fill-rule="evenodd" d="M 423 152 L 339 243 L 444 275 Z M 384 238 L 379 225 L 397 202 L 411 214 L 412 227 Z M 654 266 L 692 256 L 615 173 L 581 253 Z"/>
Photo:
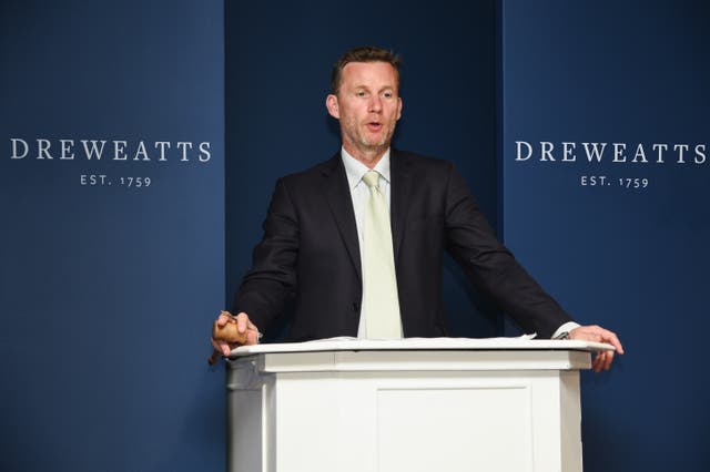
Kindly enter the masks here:
<path id="1" fill-rule="evenodd" d="M 241 346 L 230 358 L 257 353 L 314 352 L 314 351 L 363 351 L 363 350 L 613 350 L 610 345 L 577 340 L 520 338 L 405 338 L 358 339 L 331 338 L 306 342 L 267 343 Z"/>

